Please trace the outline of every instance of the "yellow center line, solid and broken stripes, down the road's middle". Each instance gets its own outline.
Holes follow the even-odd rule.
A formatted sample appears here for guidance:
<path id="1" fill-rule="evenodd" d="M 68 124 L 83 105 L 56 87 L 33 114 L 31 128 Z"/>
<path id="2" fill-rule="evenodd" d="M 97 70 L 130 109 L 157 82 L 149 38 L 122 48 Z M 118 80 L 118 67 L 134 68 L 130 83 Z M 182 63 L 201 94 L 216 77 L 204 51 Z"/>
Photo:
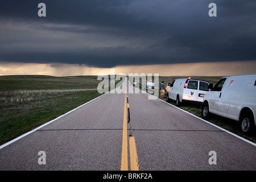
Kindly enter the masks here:
<path id="1" fill-rule="evenodd" d="M 121 159 L 121 171 L 128 171 L 128 145 L 127 145 L 127 88 L 125 91 L 125 104 L 123 106 L 123 142 L 122 142 L 122 159 Z M 129 137 L 130 144 L 130 163 L 131 171 L 139 171 L 139 161 L 137 156 L 137 149 L 135 144 L 135 138 Z"/>

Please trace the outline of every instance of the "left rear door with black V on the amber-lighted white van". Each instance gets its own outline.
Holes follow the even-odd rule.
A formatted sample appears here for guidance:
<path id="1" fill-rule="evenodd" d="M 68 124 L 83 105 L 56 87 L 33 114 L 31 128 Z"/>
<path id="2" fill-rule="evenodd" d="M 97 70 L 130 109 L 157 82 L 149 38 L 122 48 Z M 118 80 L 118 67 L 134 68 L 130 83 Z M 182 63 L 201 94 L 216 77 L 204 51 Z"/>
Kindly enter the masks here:
<path id="1" fill-rule="evenodd" d="M 187 88 L 184 89 L 183 99 L 189 101 L 197 101 L 199 81 L 189 80 Z"/>

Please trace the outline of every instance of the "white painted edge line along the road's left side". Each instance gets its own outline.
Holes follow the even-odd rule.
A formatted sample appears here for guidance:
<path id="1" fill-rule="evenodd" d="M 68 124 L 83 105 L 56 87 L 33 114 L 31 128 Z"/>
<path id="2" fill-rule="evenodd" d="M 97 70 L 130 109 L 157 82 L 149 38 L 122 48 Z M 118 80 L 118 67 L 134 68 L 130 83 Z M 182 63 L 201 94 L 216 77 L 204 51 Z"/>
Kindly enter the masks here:
<path id="1" fill-rule="evenodd" d="M 111 90 L 110 90 L 110 91 L 111 91 Z M 110 91 L 109 91 L 109 92 L 110 92 Z M 109 92 L 107 92 L 107 93 L 109 93 Z M 68 111 L 67 113 L 65 113 L 65 114 L 63 114 L 63 115 L 60 115 L 59 117 L 53 119 L 52 121 L 49 121 L 49 122 L 47 122 L 47 123 L 44 123 L 43 125 L 37 127 L 37 128 L 34 129 L 34 130 L 28 131 L 27 133 L 25 133 L 25 134 L 23 134 L 23 135 L 20 135 L 19 137 L 15 138 L 15 139 L 13 139 L 13 140 L 10 140 L 9 142 L 7 142 L 7 143 L 5 143 L 5 144 L 2 144 L 2 145 L 0 146 L 0 149 L 2 149 L 3 147 L 8 146 L 9 144 L 11 144 L 11 143 L 13 143 L 13 142 L 16 142 L 16 140 L 19 140 L 19 139 L 21 139 L 21 138 L 23 138 L 23 137 L 26 137 L 27 135 L 33 133 L 33 132 L 36 131 L 36 130 L 39 130 L 40 128 L 42 128 L 42 127 L 44 127 L 44 126 L 46 126 L 46 125 L 49 125 L 49 123 L 52 123 L 53 121 L 56 121 L 57 119 L 60 119 L 60 118 L 64 117 L 65 115 L 71 113 L 72 111 L 79 109 L 80 107 L 82 107 L 82 106 L 88 104 L 89 102 L 92 102 L 92 101 L 96 100 L 97 98 L 100 98 L 100 97 L 104 96 L 104 95 L 107 94 L 107 93 L 104 93 L 104 94 L 102 94 L 101 96 L 98 96 L 98 97 L 94 98 L 93 100 L 90 100 L 90 101 L 86 102 L 85 104 L 82 104 L 82 105 L 76 107 L 75 109 Z"/>

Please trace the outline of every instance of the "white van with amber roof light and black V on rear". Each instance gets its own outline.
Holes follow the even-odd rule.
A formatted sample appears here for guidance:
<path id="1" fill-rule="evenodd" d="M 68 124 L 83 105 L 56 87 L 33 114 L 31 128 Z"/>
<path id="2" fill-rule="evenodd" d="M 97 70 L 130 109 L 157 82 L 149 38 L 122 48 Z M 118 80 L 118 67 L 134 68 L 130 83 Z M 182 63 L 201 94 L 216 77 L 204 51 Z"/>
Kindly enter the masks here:
<path id="1" fill-rule="evenodd" d="M 168 89 L 166 101 L 175 100 L 176 106 L 185 101 L 202 104 L 204 94 L 209 91 L 209 84 L 208 81 L 191 78 L 176 79 Z"/>

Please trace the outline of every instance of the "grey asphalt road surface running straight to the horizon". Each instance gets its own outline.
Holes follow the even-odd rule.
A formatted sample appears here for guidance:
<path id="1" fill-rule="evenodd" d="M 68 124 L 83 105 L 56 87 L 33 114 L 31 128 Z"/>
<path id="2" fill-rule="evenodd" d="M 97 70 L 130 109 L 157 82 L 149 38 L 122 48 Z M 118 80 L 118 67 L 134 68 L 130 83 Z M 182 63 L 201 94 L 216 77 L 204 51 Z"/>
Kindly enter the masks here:
<path id="1" fill-rule="evenodd" d="M 135 139 L 140 171 L 255 171 L 255 144 L 159 99 L 148 100 L 147 93 L 134 93 L 127 79 L 126 86 L 133 89 L 127 93 L 127 139 Z M 106 93 L 1 146 L 0 170 L 120 171 L 125 99 L 125 93 Z"/>

